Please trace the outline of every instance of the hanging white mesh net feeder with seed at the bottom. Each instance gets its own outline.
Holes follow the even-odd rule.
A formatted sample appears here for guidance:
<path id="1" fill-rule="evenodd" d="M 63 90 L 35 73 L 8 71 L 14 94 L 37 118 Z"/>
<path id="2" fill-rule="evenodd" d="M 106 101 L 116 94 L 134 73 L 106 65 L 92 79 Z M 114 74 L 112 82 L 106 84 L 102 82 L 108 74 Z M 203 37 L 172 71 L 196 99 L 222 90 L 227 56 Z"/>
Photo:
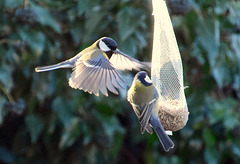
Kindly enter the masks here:
<path id="1" fill-rule="evenodd" d="M 152 0 L 154 36 L 151 78 L 159 92 L 158 117 L 166 131 L 182 129 L 188 120 L 183 67 L 164 0 Z"/>

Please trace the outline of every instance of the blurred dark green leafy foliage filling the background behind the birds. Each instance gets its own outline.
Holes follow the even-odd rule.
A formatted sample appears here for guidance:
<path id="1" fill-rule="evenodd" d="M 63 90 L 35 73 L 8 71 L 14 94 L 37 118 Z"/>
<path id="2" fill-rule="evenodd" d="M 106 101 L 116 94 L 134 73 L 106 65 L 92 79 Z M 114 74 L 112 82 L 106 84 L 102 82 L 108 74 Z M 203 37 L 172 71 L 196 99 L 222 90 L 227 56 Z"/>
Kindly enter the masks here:
<path id="1" fill-rule="evenodd" d="M 165 153 L 141 135 L 126 91 L 95 97 L 68 86 L 71 70 L 34 72 L 102 36 L 149 61 L 151 1 L 1 0 L 0 162 L 240 163 L 240 2 L 169 3 L 190 117 Z"/>

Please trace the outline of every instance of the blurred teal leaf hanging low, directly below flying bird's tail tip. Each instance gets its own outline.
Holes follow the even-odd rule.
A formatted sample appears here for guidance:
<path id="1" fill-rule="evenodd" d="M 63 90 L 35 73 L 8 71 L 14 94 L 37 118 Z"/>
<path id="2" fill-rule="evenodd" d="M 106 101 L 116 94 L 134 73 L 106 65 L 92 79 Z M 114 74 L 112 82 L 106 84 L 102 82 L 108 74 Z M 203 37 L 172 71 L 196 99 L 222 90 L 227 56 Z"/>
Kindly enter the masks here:
<path id="1" fill-rule="evenodd" d="M 25 122 L 30 132 L 31 141 L 32 143 L 35 143 L 43 129 L 43 123 L 35 114 L 28 115 L 25 119 Z"/>

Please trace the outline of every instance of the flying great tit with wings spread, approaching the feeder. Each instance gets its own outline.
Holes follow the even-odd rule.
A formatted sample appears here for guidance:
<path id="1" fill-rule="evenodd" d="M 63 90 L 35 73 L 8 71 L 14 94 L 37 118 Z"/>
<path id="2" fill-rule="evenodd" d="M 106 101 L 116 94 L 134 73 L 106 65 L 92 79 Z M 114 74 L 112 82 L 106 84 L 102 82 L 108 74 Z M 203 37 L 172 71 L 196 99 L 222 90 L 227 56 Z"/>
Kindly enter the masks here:
<path id="1" fill-rule="evenodd" d="M 107 88 L 118 94 L 116 88 L 123 88 L 125 84 L 117 70 L 150 70 L 150 63 L 140 62 L 122 53 L 113 39 L 102 37 L 73 58 L 55 65 L 37 67 L 35 71 L 44 72 L 59 68 L 73 69 L 68 82 L 72 88 L 94 93 L 96 96 L 100 90 L 108 96 Z"/>

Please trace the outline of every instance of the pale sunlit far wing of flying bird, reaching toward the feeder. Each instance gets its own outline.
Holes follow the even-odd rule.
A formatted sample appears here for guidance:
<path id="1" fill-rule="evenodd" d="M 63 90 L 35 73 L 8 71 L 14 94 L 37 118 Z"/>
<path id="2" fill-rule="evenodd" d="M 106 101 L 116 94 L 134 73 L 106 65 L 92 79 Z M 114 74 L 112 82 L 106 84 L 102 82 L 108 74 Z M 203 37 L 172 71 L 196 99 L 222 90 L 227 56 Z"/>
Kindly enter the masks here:
<path id="1" fill-rule="evenodd" d="M 110 58 L 110 62 L 113 64 L 113 66 L 121 71 L 124 70 L 132 70 L 135 69 L 139 71 L 140 69 L 145 69 L 147 71 L 150 71 L 151 64 L 147 62 L 140 62 L 126 54 L 123 53 L 116 53 L 113 54 Z"/>

